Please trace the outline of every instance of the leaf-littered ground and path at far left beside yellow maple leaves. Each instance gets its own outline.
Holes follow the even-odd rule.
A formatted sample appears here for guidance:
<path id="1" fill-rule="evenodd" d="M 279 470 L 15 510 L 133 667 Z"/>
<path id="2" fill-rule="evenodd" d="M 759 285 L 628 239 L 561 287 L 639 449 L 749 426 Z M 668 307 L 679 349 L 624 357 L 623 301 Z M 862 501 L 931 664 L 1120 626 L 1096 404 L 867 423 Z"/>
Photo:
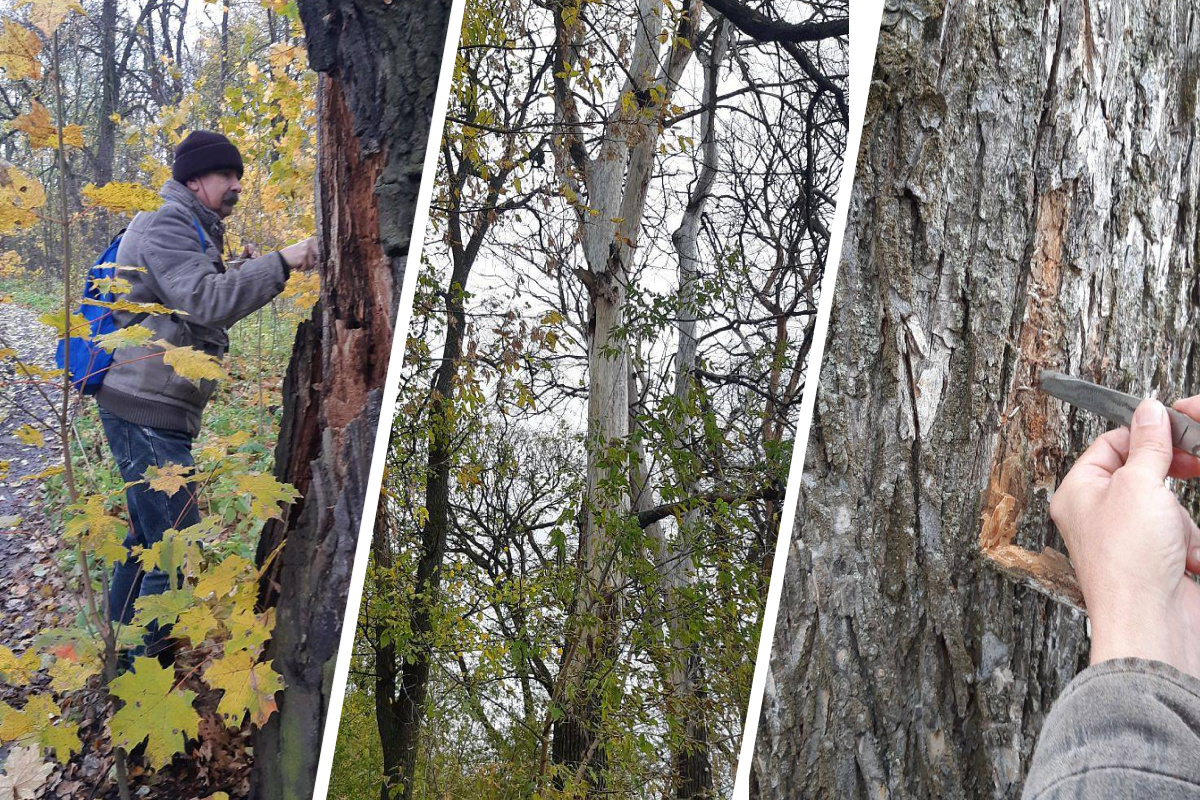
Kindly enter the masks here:
<path id="1" fill-rule="evenodd" d="M 37 321 L 40 315 L 41 312 L 14 302 L 0 306 L 0 348 L 16 350 L 24 363 L 50 369 L 55 336 L 50 327 Z M 11 361 L 0 362 L 0 464 L 8 462 L 7 476 L 0 477 L 0 597 L 4 599 L 0 644 L 19 655 L 32 645 L 38 632 L 72 625 L 77 612 L 66 573 L 71 569 L 70 548 L 61 545 L 56 535 L 59 523 L 49 512 L 53 498 L 48 497 L 43 481 L 20 480 L 60 465 L 62 450 L 49 432 L 41 447 L 17 437 L 25 425 L 37 427 L 30 413 L 43 421 L 53 419 L 48 402 L 59 402 L 61 391 L 13 381 L 14 372 Z M 196 702 L 202 715 L 199 741 L 193 742 L 188 754 L 176 756 L 157 772 L 132 766 L 130 782 L 136 798 L 192 800 L 217 792 L 229 798 L 248 794 L 251 734 L 247 726 L 226 728 L 216 714 L 220 696 L 192 678 L 204 655 L 199 650 L 188 651 L 176 666 L 176 676 L 184 686 L 199 693 Z M 30 691 L 47 684 L 48 678 L 42 673 L 32 687 L 0 685 L 0 700 L 20 708 Z M 108 712 L 96 703 L 96 697 L 95 691 L 55 697 L 64 712 L 79 724 L 83 750 L 55 769 L 38 798 L 118 798 L 114 754 L 106 732 Z M 0 760 L 7 751 L 0 748 Z"/>

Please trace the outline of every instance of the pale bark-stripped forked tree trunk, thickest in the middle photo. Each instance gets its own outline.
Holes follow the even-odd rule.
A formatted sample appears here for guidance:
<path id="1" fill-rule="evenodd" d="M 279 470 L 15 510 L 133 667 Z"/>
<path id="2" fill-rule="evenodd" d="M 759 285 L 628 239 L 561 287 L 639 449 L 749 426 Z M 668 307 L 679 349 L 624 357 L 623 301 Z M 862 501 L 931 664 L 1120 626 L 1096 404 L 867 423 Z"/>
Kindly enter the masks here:
<path id="1" fill-rule="evenodd" d="M 577 59 L 583 34 L 578 19 L 568 24 L 559 5 L 556 12 L 558 58 L 556 73 Z M 565 714 L 553 726 L 552 757 L 556 764 L 583 774 L 599 792 L 605 784 L 606 751 L 600 736 L 600 692 L 596 686 L 604 663 L 617 646 L 620 620 L 622 565 L 617 553 L 618 528 L 630 524 L 631 499 L 625 489 L 604 488 L 608 462 L 623 453 L 629 435 L 629 343 L 622 331 L 630 260 L 641 231 L 646 193 L 659 140 L 661 109 L 691 58 L 690 42 L 698 29 L 703 4 L 690 2 L 674 31 L 672 44 L 662 48 L 661 0 L 641 0 L 634 31 L 634 50 L 622 92 L 648 97 L 660 91 L 656 104 L 638 100 L 629 112 L 617 101 L 605 121 L 602 144 L 589 157 L 572 136 L 564 136 L 556 151 L 559 174 L 572 193 L 580 194 L 581 249 L 587 269 L 581 271 L 589 296 L 588 319 L 588 425 L 587 482 L 580 533 L 578 588 L 570 609 L 568 643 L 559 676 L 559 694 L 569 698 Z M 662 59 L 660 62 L 660 58 Z M 578 114 L 565 80 L 556 74 L 557 115 L 578 130 Z M 569 163 L 568 163 L 569 162 Z M 569 176 L 570 175 L 570 176 Z M 576 180 L 577 178 L 577 180 Z M 594 212 L 594 213 L 593 213 Z M 556 698 L 558 700 L 559 698 Z"/>

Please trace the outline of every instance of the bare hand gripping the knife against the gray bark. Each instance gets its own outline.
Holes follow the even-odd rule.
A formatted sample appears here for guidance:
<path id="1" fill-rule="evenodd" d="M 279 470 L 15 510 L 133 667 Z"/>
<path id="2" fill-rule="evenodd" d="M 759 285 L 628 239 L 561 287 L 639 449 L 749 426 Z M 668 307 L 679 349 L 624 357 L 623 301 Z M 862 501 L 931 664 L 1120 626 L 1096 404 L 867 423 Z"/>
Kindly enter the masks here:
<path id="1" fill-rule="evenodd" d="M 1181 401 L 1200 413 L 1200 396 Z M 1168 477 L 1200 476 L 1171 447 L 1163 404 L 1144 401 L 1132 428 L 1092 443 L 1054 493 L 1050 517 L 1067 542 L 1092 620 L 1092 663 L 1140 657 L 1200 678 L 1200 529 Z"/>

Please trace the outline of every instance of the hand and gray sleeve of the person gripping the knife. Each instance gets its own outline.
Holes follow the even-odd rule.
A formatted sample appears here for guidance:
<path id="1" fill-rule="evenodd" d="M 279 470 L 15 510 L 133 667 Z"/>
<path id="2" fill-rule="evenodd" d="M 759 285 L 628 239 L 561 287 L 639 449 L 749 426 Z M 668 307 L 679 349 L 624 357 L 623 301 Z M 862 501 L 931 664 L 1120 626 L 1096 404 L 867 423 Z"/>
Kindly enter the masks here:
<path id="1" fill-rule="evenodd" d="M 1176 408 L 1200 419 L 1200 396 Z M 1055 702 L 1032 800 L 1200 796 L 1200 529 L 1166 477 L 1200 476 L 1171 449 L 1157 401 L 1079 457 L 1050 503 L 1091 622 L 1091 667 Z M 1190 575 L 1189 575 L 1190 573 Z"/>

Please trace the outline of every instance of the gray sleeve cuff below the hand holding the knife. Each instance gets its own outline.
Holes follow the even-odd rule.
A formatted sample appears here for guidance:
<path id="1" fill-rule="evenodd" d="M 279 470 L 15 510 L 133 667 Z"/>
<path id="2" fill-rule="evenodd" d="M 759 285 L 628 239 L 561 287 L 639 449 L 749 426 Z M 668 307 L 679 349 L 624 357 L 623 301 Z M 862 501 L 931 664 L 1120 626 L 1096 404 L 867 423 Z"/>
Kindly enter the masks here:
<path id="1" fill-rule="evenodd" d="M 1025 800 L 1200 796 L 1200 681 L 1115 658 L 1075 676 L 1050 710 Z"/>

